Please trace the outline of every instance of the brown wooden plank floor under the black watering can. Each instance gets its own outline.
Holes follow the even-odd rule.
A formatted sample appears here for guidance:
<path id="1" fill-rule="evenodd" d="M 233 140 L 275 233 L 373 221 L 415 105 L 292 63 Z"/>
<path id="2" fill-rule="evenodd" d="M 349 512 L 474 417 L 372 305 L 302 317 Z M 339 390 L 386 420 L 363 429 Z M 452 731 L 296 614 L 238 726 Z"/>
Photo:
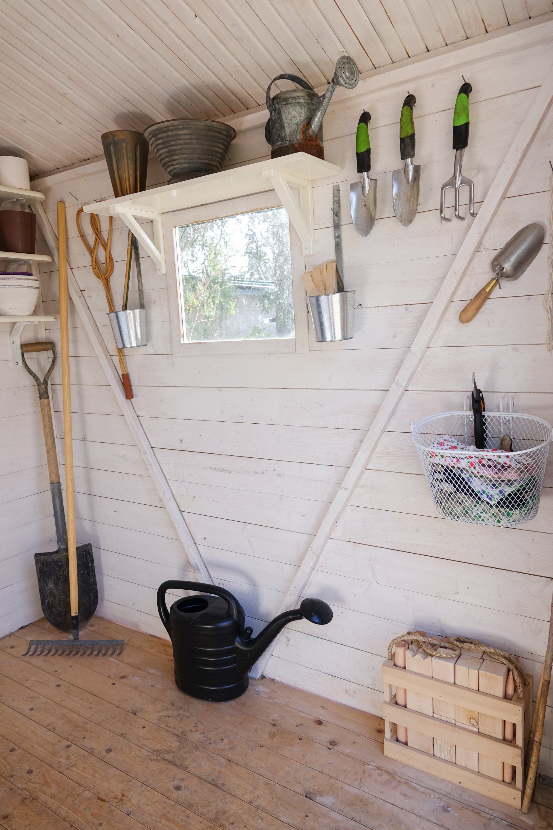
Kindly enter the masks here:
<path id="1" fill-rule="evenodd" d="M 5 830 L 553 828 L 386 759 L 379 718 L 274 681 L 230 703 L 182 695 L 170 644 L 95 618 L 121 657 L 23 658 L 44 621 L 0 640 Z"/>

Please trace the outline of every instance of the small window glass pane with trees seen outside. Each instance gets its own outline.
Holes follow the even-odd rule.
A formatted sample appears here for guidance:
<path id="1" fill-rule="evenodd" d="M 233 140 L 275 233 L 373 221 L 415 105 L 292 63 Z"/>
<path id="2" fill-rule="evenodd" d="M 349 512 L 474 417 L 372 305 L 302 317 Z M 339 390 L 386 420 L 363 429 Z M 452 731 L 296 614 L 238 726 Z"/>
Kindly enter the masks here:
<path id="1" fill-rule="evenodd" d="M 294 337 L 284 207 L 175 228 L 182 340 Z"/>

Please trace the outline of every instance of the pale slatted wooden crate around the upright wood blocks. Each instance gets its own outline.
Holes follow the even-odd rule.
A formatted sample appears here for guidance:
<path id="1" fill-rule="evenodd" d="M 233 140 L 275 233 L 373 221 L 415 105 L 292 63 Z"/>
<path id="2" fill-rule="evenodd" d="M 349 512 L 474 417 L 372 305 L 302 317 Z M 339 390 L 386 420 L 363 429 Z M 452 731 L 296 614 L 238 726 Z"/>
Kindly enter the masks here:
<path id="1" fill-rule="evenodd" d="M 515 690 L 512 701 L 507 701 L 501 697 L 487 695 L 482 691 L 473 691 L 464 686 L 455 686 L 453 683 L 436 680 L 434 677 L 415 674 L 413 671 L 398 668 L 390 660 L 386 660 L 382 666 L 382 680 L 384 681 L 384 754 L 388 758 L 402 761 L 410 767 L 449 781 L 450 784 L 459 784 L 461 787 L 472 789 L 475 793 L 488 795 L 490 798 L 495 798 L 504 804 L 512 804 L 513 807 L 520 809 L 524 752 L 531 724 L 531 683 L 524 687 L 522 698 Z M 511 743 L 491 738 L 465 729 L 463 726 L 397 706 L 395 695 L 392 695 L 392 686 L 410 689 L 421 695 L 438 698 L 440 701 L 447 701 L 466 709 L 510 721 L 515 725 L 514 740 Z M 515 767 L 512 784 L 505 784 L 503 781 L 489 778 L 488 775 L 473 772 L 451 761 L 400 744 L 397 740 L 398 724 L 406 726 L 407 729 L 424 732 L 425 735 L 432 735 L 439 740 L 450 741 L 456 746 L 472 749 L 474 752 L 488 755 L 506 764 L 512 764 Z"/>

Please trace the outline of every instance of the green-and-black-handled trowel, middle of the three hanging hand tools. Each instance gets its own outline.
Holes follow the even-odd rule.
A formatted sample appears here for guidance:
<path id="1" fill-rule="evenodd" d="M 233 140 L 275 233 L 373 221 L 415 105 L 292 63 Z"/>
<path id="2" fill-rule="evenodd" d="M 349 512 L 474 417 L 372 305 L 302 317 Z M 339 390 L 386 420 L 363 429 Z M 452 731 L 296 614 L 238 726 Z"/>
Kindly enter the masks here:
<path id="1" fill-rule="evenodd" d="M 394 170 L 391 176 L 392 200 L 395 216 L 407 227 L 413 222 L 419 207 L 420 164 L 413 164 L 415 156 L 415 125 L 413 107 L 415 95 L 407 95 L 401 107 L 400 157 L 405 167 Z"/>

